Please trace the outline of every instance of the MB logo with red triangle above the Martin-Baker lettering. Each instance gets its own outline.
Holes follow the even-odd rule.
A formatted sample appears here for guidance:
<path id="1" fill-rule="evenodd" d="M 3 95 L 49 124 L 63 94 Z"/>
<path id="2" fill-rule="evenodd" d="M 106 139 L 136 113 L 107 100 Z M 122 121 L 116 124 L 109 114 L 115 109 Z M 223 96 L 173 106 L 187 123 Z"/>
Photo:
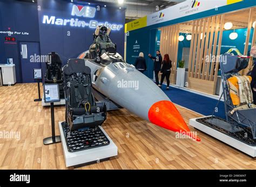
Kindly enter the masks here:
<path id="1" fill-rule="evenodd" d="M 96 8 L 91 6 L 82 6 L 82 5 L 73 5 L 72 8 L 72 16 L 83 16 L 94 18 L 95 17 Z"/>

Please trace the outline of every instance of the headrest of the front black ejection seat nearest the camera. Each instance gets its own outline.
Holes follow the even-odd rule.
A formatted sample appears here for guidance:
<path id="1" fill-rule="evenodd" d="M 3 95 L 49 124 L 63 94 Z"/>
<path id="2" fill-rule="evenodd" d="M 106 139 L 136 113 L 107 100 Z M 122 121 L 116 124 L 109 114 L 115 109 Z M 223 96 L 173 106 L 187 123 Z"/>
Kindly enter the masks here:
<path id="1" fill-rule="evenodd" d="M 64 66 L 63 71 L 66 75 L 71 75 L 73 73 L 91 74 L 91 69 L 88 66 L 85 66 L 84 59 L 69 59 L 66 66 Z"/>

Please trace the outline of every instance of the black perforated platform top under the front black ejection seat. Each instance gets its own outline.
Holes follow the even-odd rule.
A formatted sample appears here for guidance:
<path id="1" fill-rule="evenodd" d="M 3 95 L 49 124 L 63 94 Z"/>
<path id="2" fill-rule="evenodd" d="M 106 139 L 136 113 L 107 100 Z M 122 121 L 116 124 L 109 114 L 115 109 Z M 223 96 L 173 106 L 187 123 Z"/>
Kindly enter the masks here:
<path id="1" fill-rule="evenodd" d="M 69 152 L 107 146 L 110 143 L 99 127 L 70 131 L 69 126 L 63 122 L 62 129 Z"/>

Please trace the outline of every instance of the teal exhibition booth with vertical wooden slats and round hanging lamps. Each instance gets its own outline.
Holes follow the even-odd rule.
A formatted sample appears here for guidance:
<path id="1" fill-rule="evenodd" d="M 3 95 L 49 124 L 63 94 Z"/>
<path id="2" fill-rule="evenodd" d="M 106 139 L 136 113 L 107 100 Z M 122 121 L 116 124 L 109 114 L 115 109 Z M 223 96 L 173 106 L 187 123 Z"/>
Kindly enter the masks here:
<path id="1" fill-rule="evenodd" d="M 174 65 L 172 84 L 220 95 L 220 71 L 215 56 L 229 50 L 245 55 L 250 52 L 255 42 L 255 2 L 195 2 L 179 3 L 127 23 L 126 61 L 133 63 L 138 52 L 154 54 L 160 50 L 162 55 L 170 55 Z M 214 37 L 215 33 L 218 37 Z M 150 59 L 146 60 L 150 67 Z M 184 65 L 180 67 L 179 61 L 184 61 Z M 252 61 L 248 67 L 251 65 Z M 145 74 L 153 78 L 152 72 L 149 68 Z M 180 78 L 184 83 L 179 82 Z"/>

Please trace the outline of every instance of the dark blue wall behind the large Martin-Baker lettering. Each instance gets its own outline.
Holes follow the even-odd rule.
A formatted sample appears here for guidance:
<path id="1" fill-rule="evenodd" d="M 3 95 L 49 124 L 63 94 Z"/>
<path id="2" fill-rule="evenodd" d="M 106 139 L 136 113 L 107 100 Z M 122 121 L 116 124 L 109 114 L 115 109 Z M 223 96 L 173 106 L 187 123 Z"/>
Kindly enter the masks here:
<path id="1" fill-rule="evenodd" d="M 95 28 L 76 27 L 67 25 L 44 24 L 43 16 L 55 16 L 56 19 L 79 19 L 89 23 L 90 20 L 97 20 L 98 22 L 107 21 L 111 24 L 120 24 L 123 27 L 117 31 L 112 30 L 110 38 L 113 43 L 117 44 L 117 52 L 122 56 L 124 55 L 124 24 L 125 24 L 125 9 L 118 9 L 116 7 L 100 6 L 100 10 L 96 11 L 95 17 L 76 17 L 72 16 L 72 6 L 74 3 L 65 1 L 43 1 L 38 0 L 38 5 L 41 6 L 41 11 L 38 11 L 40 41 L 41 41 L 41 54 L 48 54 L 55 51 L 59 54 L 63 65 L 66 64 L 68 59 L 76 58 L 80 53 L 87 51 L 93 42 L 92 33 Z M 96 5 L 86 5 L 96 8 Z M 69 34 L 70 33 L 70 34 Z M 45 64 L 44 68 L 45 70 Z M 44 71 L 43 71 L 44 72 Z"/>

